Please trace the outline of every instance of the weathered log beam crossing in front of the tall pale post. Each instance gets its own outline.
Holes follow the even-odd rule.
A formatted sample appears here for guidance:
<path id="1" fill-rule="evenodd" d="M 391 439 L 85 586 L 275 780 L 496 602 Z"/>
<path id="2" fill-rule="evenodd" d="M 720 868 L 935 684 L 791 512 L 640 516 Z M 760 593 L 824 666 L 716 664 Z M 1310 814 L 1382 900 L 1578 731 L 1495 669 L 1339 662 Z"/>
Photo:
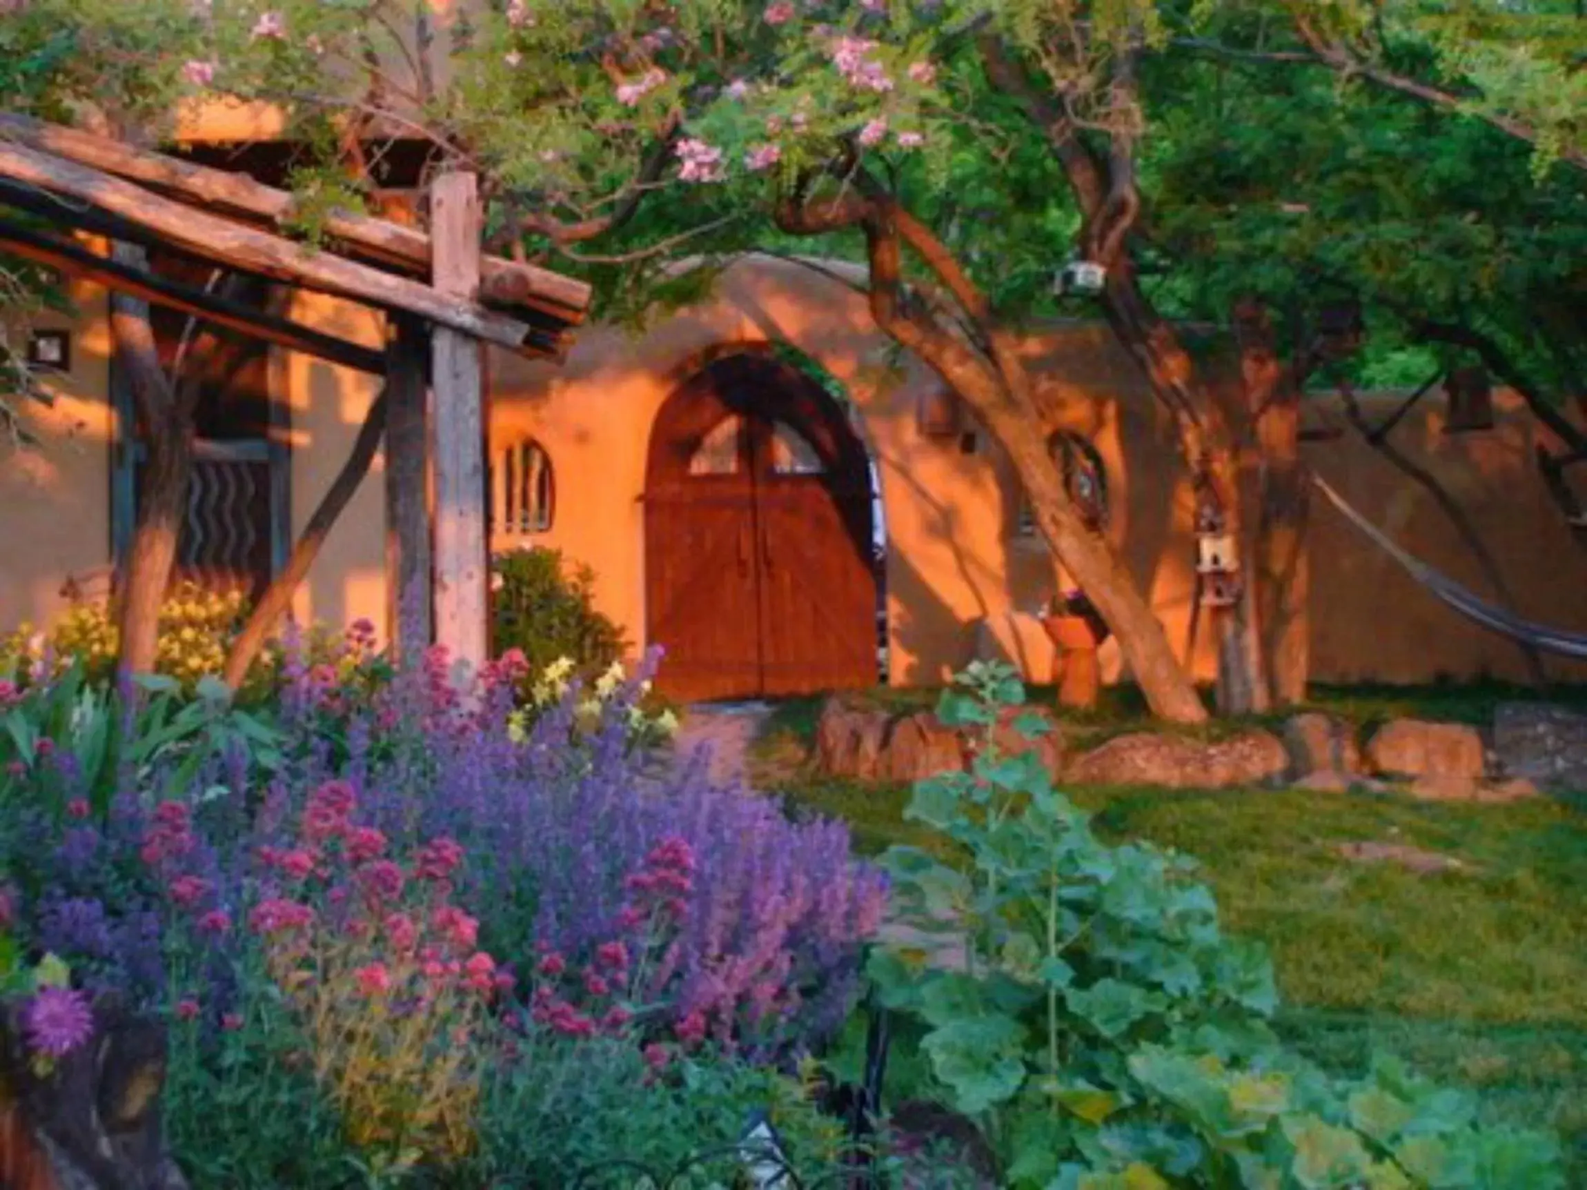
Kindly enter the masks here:
<path id="1" fill-rule="evenodd" d="M 0 140 L 0 175 L 27 186 L 92 203 L 148 228 L 194 255 L 262 276 L 349 297 L 382 309 L 417 314 L 473 340 L 517 351 L 530 328 L 484 309 L 465 294 L 443 294 L 417 281 L 381 273 L 330 252 L 195 211 L 132 182 L 76 162 Z M 478 289 L 478 284 L 475 286 Z"/>

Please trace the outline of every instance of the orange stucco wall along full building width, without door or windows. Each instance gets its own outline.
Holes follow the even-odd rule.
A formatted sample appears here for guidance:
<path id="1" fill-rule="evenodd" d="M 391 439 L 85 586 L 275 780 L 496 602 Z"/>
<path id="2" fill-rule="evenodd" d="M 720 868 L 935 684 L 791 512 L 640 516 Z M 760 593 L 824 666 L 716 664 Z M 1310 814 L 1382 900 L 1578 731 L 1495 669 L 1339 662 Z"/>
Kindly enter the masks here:
<path id="1" fill-rule="evenodd" d="M 71 397 L 30 416 L 46 438 L 41 455 L 0 466 L 0 622 L 48 619 L 68 573 L 108 563 L 108 457 L 113 433 L 105 392 L 103 295 L 84 290 Z M 365 343 L 378 321 L 329 298 L 302 297 L 294 314 Z M 1054 587 L 1039 541 L 1016 532 L 1016 492 L 984 438 L 974 454 L 924 438 L 916 408 L 936 379 L 898 363 L 863 300 L 814 270 L 755 259 L 730 268 L 713 298 L 660 319 L 638 335 L 589 327 L 562 367 L 501 352 L 489 357 L 492 441 L 530 435 L 555 468 L 557 516 L 533 538 L 494 547 L 548 544 L 587 562 L 601 608 L 646 644 L 644 468 L 662 401 L 703 359 L 733 344 L 786 341 L 827 368 L 860 413 L 878 463 L 886 514 L 892 681 L 938 682 L 978 652 L 1003 651 L 1046 678 L 1051 651 L 1028 612 Z M 1108 332 L 1063 325 L 1028 346 L 1052 427 L 1090 436 L 1108 468 L 1109 535 L 1184 651 L 1190 641 L 1190 497 L 1170 427 Z M 278 392 L 290 409 L 292 522 L 302 528 L 357 433 L 373 382 L 340 368 L 278 354 Z M 1387 411 L 1395 398 L 1366 398 Z M 1435 474 L 1470 517 L 1514 597 L 1516 609 L 1563 628 L 1587 630 L 1587 551 L 1536 478 L 1538 430 L 1519 401 L 1500 395 L 1495 430 L 1443 433 L 1441 401 L 1428 397 L 1395 444 Z M 1328 401 L 1311 424 L 1343 425 Z M 1354 433 L 1306 447 L 1309 462 L 1346 498 L 1424 560 L 1484 597 L 1492 590 L 1433 497 Z M 300 590 L 300 619 L 384 625 L 381 465 L 325 543 Z M 1365 544 L 1320 498 L 1312 528 L 1312 671 L 1322 681 L 1428 681 L 1439 674 L 1524 676 L 1514 646 L 1466 624 Z M 62 532 L 70 525 L 70 532 Z M 1197 668 L 1211 676 L 1209 633 L 1197 635 Z M 1119 678 L 1116 649 L 1105 673 Z M 1587 670 L 1550 662 L 1558 678 Z"/>

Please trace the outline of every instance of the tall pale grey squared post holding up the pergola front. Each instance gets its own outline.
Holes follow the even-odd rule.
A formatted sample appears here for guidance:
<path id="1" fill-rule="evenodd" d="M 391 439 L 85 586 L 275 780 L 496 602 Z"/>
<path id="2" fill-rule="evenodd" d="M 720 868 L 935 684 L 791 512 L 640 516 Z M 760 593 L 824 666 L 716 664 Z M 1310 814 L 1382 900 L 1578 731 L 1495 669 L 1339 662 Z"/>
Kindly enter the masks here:
<path id="1" fill-rule="evenodd" d="M 430 187 L 435 287 L 471 298 L 479 289 L 479 192 L 475 175 L 444 173 Z M 478 671 L 486 662 L 484 384 L 479 340 L 432 332 L 435 390 L 435 639 Z"/>

